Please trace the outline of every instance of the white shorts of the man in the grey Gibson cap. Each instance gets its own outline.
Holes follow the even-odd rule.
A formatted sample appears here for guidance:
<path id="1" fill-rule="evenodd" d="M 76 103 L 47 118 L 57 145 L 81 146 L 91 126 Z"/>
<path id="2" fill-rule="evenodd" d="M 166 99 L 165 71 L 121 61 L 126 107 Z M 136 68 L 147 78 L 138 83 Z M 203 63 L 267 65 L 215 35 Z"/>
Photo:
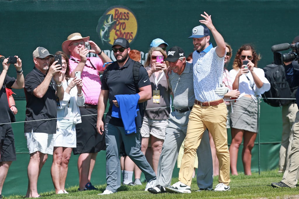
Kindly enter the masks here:
<path id="1" fill-rule="evenodd" d="M 44 154 L 53 155 L 54 138 L 52 133 L 38 133 L 38 132 L 26 132 L 25 137 L 27 139 L 27 147 L 29 153 L 36 151 Z"/>

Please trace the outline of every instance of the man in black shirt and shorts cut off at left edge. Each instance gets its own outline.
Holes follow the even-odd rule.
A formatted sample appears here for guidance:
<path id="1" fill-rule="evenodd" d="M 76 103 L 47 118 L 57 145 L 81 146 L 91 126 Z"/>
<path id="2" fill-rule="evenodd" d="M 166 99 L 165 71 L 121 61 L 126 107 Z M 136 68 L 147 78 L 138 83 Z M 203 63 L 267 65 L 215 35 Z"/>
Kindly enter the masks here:
<path id="1" fill-rule="evenodd" d="M 20 58 L 18 58 L 18 56 L 15 57 L 17 58 L 17 62 L 16 64 L 14 64 L 17 72 L 17 79 L 9 77 L 7 75 L 7 71 L 10 66 L 10 64 L 8 63 L 8 58 L 4 59 L 4 56 L 0 55 L 0 59 L 4 59 L 2 63 L 3 71 L 0 72 L 0 198 L 3 198 L 1 192 L 4 180 L 8 172 L 8 168 L 11 165 L 12 161 L 16 160 L 15 141 L 13 136 L 13 129 L 10 124 L 10 112 L 12 111 L 10 110 L 10 107 L 8 105 L 5 87 L 15 89 L 24 88 L 22 61 Z"/>

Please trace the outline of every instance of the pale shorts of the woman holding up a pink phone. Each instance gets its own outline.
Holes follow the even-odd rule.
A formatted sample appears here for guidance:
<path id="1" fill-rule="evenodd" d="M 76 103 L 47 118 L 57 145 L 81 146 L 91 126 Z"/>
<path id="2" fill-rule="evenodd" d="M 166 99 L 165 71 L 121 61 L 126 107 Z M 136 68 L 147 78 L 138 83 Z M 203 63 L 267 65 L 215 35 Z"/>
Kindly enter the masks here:
<path id="1" fill-rule="evenodd" d="M 155 138 L 164 140 L 165 129 L 167 125 L 168 125 L 168 119 L 155 120 L 144 116 L 142 127 L 140 130 L 141 136 L 143 138 L 149 138 L 149 135 L 152 135 Z"/>

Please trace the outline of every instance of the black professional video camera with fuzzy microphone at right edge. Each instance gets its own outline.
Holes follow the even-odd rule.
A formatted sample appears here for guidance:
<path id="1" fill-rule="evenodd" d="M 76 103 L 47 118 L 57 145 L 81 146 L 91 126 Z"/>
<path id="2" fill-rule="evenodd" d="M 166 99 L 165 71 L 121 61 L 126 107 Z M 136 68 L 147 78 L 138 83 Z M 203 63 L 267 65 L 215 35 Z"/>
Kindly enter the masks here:
<path id="1" fill-rule="evenodd" d="M 282 50 L 288 50 L 289 48 L 292 48 L 295 50 L 295 53 L 280 53 L 277 51 L 282 51 Z M 274 54 L 274 64 L 280 65 L 283 64 L 283 62 L 289 62 L 289 61 L 298 61 L 299 60 L 299 55 L 298 55 L 298 49 L 299 49 L 299 42 L 295 44 L 277 44 L 271 47 L 271 50 Z M 298 61 L 299 63 L 299 61 Z"/>

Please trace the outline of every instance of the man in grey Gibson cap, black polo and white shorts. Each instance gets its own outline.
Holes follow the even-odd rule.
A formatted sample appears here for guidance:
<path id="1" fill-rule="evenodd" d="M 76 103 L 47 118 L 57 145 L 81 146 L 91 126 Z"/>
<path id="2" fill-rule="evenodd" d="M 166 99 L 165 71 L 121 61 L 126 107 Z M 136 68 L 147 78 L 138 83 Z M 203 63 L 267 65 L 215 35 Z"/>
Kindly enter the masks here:
<path id="1" fill-rule="evenodd" d="M 61 66 L 57 61 L 49 67 L 51 55 L 43 47 L 33 51 L 35 67 L 25 78 L 26 119 L 24 125 L 27 147 L 30 153 L 28 164 L 28 190 L 26 198 L 39 197 L 37 179 L 42 166 L 53 154 L 56 133 L 57 103 L 63 99 Z"/>

